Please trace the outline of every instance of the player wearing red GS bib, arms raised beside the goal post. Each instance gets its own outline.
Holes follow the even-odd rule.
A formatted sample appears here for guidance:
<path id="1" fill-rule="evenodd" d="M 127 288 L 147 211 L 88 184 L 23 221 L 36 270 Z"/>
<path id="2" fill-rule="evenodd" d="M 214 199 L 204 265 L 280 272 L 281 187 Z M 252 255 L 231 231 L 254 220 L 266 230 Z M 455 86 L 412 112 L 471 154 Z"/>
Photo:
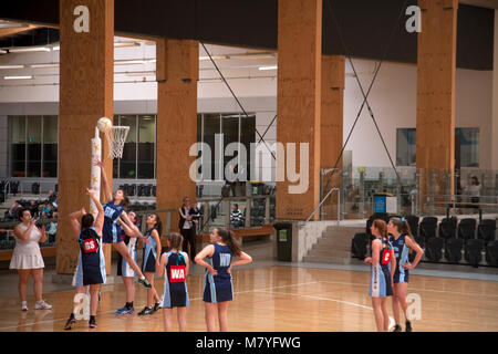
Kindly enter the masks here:
<path id="1" fill-rule="evenodd" d="M 80 244 L 80 256 L 77 260 L 77 268 L 73 278 L 73 285 L 76 287 L 76 296 L 74 299 L 82 299 L 86 292 L 86 287 L 90 287 L 90 321 L 91 329 L 96 326 L 95 315 L 98 308 L 98 289 L 101 284 L 105 283 L 105 260 L 102 250 L 102 228 L 104 223 L 104 208 L 98 198 L 95 196 L 95 190 L 86 189 L 97 208 L 97 216 L 94 219 L 93 215 L 86 214 L 82 208 L 79 211 L 70 215 L 71 228 L 77 235 Z M 81 223 L 77 219 L 81 218 Z M 82 294 L 77 296 L 77 294 Z M 73 304 L 73 312 L 71 313 L 65 330 L 71 330 L 73 323 L 76 321 L 75 313 L 80 309 L 80 302 Z"/>

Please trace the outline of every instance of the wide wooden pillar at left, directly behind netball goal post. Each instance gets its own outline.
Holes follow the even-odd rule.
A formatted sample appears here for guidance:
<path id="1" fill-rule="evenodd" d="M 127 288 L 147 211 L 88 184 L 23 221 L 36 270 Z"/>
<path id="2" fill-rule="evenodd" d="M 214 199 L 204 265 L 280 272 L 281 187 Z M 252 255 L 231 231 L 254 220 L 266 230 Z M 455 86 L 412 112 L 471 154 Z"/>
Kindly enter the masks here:
<path id="1" fill-rule="evenodd" d="M 61 69 L 56 271 L 71 274 L 77 264 L 79 247 L 77 236 L 72 231 L 68 216 L 82 207 L 89 210 L 90 199 L 85 188 L 90 186 L 90 142 L 98 118 L 113 118 L 114 0 L 62 0 L 59 11 Z M 104 138 L 102 146 L 112 185 L 112 159 L 107 158 Z M 108 247 L 105 259 L 110 273 Z"/>

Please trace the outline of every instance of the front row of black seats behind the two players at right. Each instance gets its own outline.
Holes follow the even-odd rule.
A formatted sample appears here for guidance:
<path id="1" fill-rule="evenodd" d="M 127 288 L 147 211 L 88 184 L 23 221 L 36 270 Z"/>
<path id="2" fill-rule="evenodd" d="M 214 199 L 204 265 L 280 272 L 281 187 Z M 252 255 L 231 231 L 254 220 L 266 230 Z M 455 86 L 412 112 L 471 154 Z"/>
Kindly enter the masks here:
<path id="1" fill-rule="evenodd" d="M 372 236 L 367 233 L 356 233 L 351 243 L 352 256 L 359 259 L 364 259 L 371 253 L 370 244 Z M 448 263 L 459 264 L 463 259 L 467 264 L 478 267 L 485 264 L 490 267 L 498 267 L 498 241 L 485 242 L 479 239 L 457 239 L 432 237 L 428 239 L 425 253 L 422 259 L 423 262 L 442 262 L 443 259 Z M 415 258 L 415 252 L 409 253 L 408 260 L 412 262 Z"/>

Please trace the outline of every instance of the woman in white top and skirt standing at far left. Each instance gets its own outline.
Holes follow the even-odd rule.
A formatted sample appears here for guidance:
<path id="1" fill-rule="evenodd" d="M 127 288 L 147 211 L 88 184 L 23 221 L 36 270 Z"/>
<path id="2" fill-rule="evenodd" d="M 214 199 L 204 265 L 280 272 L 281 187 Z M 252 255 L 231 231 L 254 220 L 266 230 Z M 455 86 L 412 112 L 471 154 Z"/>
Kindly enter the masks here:
<path id="1" fill-rule="evenodd" d="M 15 248 L 10 261 L 10 269 L 17 269 L 19 272 L 19 296 L 21 298 L 21 310 L 28 310 L 27 293 L 30 274 L 33 277 L 33 291 L 37 303 L 35 310 L 50 310 L 49 305 L 42 299 L 43 289 L 43 257 L 40 252 L 39 242 L 46 241 L 45 228 L 41 230 L 37 227 L 37 220 L 31 217 L 28 209 L 18 210 L 18 220 L 21 221 L 14 228 Z"/>

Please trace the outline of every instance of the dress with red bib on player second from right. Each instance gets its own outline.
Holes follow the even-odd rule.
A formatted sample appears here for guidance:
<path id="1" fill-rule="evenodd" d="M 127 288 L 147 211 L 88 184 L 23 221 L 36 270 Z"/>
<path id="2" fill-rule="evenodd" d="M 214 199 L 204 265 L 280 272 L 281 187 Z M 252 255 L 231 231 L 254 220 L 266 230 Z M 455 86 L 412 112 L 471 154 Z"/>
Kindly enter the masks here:
<path id="1" fill-rule="evenodd" d="M 393 295 L 393 284 L 391 283 L 391 261 L 386 261 L 386 252 L 392 250 L 391 243 L 387 243 L 387 248 L 384 248 L 382 238 L 382 248 L 378 252 L 378 263 L 372 264 L 372 275 L 370 280 L 369 296 L 372 298 L 385 298 Z"/>

